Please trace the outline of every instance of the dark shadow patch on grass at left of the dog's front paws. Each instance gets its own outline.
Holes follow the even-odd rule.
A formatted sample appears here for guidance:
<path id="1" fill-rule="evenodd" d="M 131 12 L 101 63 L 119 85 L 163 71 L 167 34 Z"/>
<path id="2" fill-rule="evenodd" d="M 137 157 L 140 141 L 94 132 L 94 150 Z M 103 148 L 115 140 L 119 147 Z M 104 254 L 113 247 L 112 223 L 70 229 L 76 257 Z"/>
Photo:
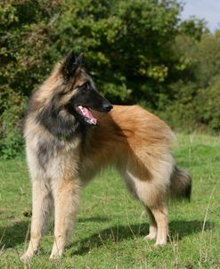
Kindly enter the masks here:
<path id="1" fill-rule="evenodd" d="M 0 227 L 0 249 L 14 248 L 25 242 L 29 232 L 29 221 L 20 221 L 12 225 Z"/>

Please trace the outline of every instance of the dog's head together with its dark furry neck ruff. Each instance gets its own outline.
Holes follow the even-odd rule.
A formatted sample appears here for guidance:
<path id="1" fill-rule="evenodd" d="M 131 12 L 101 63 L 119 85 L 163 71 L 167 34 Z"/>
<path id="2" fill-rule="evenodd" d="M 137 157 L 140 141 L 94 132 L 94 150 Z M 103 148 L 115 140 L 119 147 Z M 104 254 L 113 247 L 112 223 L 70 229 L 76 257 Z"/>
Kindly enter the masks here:
<path id="1" fill-rule="evenodd" d="M 33 100 L 40 102 L 41 107 L 37 121 L 53 135 L 66 138 L 71 137 L 78 126 L 97 124 L 91 110 L 107 113 L 113 108 L 97 92 L 92 77 L 86 71 L 83 54 L 75 57 L 73 52 L 58 64 Z"/>

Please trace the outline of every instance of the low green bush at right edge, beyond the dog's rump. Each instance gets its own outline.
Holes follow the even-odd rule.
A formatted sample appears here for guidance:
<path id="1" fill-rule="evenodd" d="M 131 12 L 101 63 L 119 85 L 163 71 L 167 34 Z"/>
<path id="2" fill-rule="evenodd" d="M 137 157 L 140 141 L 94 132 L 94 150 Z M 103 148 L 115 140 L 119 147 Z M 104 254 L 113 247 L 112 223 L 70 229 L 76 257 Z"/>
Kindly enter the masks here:
<path id="1" fill-rule="evenodd" d="M 220 130 L 220 77 L 208 88 L 199 88 L 188 83 L 180 86 L 175 100 L 160 96 L 159 116 L 170 126 L 179 130 L 193 132 L 195 129 L 218 133 Z M 177 86 L 177 85 L 176 85 Z"/>

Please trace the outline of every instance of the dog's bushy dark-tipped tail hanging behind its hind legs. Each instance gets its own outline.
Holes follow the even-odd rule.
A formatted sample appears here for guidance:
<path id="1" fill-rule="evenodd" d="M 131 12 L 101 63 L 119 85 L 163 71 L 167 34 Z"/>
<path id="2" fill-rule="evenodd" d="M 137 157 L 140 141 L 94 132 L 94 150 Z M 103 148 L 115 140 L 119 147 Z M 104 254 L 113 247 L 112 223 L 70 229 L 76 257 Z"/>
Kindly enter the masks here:
<path id="1" fill-rule="evenodd" d="M 191 176 L 185 170 L 175 167 L 170 181 L 171 198 L 191 200 Z"/>

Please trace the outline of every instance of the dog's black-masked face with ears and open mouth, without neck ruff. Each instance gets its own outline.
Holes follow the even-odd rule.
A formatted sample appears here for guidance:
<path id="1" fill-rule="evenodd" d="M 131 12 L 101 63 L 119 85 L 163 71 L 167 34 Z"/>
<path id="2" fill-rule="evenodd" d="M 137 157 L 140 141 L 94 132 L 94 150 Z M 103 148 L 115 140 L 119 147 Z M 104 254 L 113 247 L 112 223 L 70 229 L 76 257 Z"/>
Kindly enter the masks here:
<path id="1" fill-rule="evenodd" d="M 76 58 L 73 52 L 69 53 L 61 66 L 61 75 L 67 89 L 65 94 L 69 96 L 65 108 L 81 122 L 96 125 L 97 120 L 90 109 L 107 113 L 113 108 L 97 92 L 92 77 L 86 71 L 83 54 Z"/>

